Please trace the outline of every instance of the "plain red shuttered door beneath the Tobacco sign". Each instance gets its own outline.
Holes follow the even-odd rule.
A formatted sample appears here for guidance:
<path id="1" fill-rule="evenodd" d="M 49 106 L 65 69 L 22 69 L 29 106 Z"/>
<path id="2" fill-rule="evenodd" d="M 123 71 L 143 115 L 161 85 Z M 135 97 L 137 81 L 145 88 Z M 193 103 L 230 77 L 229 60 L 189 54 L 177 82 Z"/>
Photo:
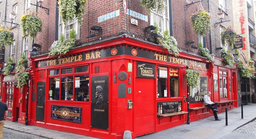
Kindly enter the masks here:
<path id="1" fill-rule="evenodd" d="M 136 78 L 135 82 L 135 136 L 154 132 L 155 79 Z"/>

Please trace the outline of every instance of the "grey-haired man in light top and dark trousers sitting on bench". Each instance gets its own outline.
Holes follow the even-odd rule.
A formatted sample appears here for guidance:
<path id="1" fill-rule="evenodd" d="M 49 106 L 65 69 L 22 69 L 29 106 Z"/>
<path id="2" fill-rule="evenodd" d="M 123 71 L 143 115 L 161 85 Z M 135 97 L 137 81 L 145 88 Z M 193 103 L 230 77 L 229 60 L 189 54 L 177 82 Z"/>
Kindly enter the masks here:
<path id="1" fill-rule="evenodd" d="M 211 95 L 211 92 L 207 92 L 207 94 L 205 94 L 203 96 L 203 102 L 205 103 L 206 107 L 210 108 L 213 111 L 213 115 L 214 115 L 215 120 L 220 121 L 220 119 L 217 116 L 217 112 L 219 112 L 217 110 L 218 103 L 212 102 L 211 99 L 210 99 L 210 95 Z"/>

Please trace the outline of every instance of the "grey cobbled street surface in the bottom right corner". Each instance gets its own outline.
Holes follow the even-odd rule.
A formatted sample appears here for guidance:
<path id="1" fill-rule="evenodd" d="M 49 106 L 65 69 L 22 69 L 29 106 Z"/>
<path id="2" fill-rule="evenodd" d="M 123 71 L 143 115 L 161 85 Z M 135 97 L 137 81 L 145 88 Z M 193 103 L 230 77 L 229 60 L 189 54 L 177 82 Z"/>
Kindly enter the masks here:
<path id="1" fill-rule="evenodd" d="M 256 138 L 256 120 L 228 133 L 223 136 L 221 139 L 230 139 L 230 138 L 238 138 L 238 139 L 255 139 Z"/>

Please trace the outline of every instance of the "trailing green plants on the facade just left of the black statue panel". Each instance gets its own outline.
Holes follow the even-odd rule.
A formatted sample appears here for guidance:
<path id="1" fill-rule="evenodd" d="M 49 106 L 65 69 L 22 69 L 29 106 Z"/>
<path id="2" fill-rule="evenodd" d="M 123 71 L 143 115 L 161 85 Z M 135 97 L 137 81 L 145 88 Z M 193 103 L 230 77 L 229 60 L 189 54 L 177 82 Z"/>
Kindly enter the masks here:
<path id="1" fill-rule="evenodd" d="M 25 84 L 27 84 L 27 80 L 29 79 L 29 72 L 26 72 L 26 63 L 27 59 L 25 54 L 22 54 L 21 59 L 17 62 L 16 65 L 16 76 L 18 79 L 18 88 L 22 88 Z"/>

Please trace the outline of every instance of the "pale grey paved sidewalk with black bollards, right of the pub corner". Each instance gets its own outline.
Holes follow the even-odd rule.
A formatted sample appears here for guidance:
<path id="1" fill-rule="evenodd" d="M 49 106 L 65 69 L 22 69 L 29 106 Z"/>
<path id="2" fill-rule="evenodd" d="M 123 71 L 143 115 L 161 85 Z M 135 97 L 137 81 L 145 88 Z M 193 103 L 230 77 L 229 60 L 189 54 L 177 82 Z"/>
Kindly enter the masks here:
<path id="1" fill-rule="evenodd" d="M 241 107 L 228 110 L 228 125 L 226 126 L 226 113 L 217 113 L 220 121 L 211 117 L 169 128 L 157 133 L 152 133 L 136 139 L 219 139 L 233 130 L 255 120 L 256 104 L 251 103 L 243 106 L 243 119 L 241 118 Z"/>

